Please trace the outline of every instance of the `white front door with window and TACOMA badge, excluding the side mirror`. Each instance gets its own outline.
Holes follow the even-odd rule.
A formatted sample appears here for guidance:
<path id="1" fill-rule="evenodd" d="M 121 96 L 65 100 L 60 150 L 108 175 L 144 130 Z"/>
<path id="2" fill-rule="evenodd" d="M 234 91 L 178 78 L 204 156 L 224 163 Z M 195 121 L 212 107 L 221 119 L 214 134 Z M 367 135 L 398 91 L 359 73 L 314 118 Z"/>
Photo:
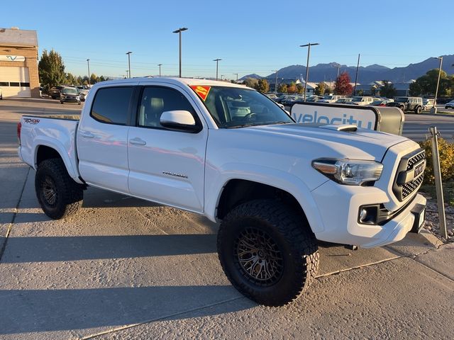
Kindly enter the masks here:
<path id="1" fill-rule="evenodd" d="M 178 86 L 143 87 L 136 126 L 131 126 L 128 135 L 129 190 L 133 196 L 203 211 L 208 129 L 194 104 Z M 162 113 L 173 110 L 191 112 L 201 131 L 181 132 L 160 125 Z"/>

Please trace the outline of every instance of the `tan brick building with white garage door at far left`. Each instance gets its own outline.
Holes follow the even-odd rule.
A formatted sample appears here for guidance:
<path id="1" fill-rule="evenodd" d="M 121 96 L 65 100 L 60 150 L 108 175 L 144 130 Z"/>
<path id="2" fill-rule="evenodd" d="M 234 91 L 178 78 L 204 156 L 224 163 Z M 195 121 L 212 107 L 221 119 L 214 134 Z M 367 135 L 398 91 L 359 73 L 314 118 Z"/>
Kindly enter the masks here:
<path id="1" fill-rule="evenodd" d="M 6 97 L 40 97 L 35 30 L 0 28 L 0 89 Z"/>

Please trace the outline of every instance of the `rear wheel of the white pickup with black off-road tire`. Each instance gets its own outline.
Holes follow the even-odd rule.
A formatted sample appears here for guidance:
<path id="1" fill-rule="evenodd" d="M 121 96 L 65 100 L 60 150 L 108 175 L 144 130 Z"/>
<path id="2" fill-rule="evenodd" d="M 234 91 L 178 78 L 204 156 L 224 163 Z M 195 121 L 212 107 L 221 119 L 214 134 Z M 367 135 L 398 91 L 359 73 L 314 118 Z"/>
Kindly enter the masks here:
<path id="1" fill-rule="evenodd" d="M 62 159 L 46 159 L 40 163 L 35 175 L 35 192 L 45 215 L 54 220 L 73 215 L 84 198 L 83 186 L 70 177 Z"/>

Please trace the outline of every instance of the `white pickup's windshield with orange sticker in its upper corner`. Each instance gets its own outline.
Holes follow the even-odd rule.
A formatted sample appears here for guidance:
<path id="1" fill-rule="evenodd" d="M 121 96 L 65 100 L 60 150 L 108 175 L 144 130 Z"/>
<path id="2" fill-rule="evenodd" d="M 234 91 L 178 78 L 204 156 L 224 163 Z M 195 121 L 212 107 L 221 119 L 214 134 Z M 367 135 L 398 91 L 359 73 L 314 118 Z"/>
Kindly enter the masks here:
<path id="1" fill-rule="evenodd" d="M 282 108 L 258 91 L 228 86 L 191 87 L 219 128 L 294 123 Z"/>

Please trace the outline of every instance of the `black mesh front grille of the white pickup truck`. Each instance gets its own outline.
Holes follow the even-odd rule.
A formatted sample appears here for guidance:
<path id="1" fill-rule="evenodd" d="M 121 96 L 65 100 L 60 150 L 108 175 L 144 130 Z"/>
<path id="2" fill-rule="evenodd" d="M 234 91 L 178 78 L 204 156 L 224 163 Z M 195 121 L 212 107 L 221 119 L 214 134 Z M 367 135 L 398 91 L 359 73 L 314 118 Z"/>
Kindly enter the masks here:
<path id="1" fill-rule="evenodd" d="M 421 184 L 423 183 L 423 176 L 417 176 L 416 179 L 413 179 L 414 176 L 414 167 L 416 164 L 421 164 L 426 159 L 426 152 L 423 149 L 417 149 L 415 152 L 406 154 L 402 157 L 399 166 L 397 167 L 396 178 L 392 186 L 392 191 L 399 201 L 408 198 L 412 193 L 417 191 Z M 425 164 L 423 165 L 425 166 Z M 408 181 L 399 182 L 399 178 L 409 179 Z"/>

